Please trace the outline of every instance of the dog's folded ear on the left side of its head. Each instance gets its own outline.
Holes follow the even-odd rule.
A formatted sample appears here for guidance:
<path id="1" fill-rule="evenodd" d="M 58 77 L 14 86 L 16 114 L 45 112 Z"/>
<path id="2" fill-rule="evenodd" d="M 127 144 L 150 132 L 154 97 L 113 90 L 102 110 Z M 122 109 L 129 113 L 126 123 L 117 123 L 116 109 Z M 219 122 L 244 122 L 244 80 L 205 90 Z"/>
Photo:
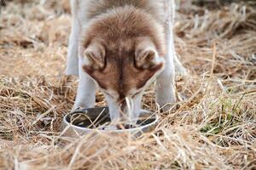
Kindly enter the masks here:
<path id="1" fill-rule="evenodd" d="M 91 42 L 84 50 L 84 67 L 101 70 L 105 66 L 106 50 L 99 42 Z"/>

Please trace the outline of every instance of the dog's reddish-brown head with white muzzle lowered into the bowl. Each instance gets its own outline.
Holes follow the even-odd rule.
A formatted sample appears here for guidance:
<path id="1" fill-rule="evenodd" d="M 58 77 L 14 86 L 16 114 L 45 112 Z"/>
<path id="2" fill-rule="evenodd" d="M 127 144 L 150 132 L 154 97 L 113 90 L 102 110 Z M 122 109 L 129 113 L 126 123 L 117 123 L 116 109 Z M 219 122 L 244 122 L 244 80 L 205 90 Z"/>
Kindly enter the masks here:
<path id="1" fill-rule="evenodd" d="M 130 16 L 130 24 L 122 23 L 121 17 L 113 15 L 90 26 L 80 55 L 84 71 L 106 96 L 111 118 L 125 117 L 131 109 L 132 118 L 137 119 L 144 89 L 164 68 L 164 37 L 156 23 L 138 21 L 145 20 L 142 14 Z M 130 108 L 127 99 L 132 101 Z"/>

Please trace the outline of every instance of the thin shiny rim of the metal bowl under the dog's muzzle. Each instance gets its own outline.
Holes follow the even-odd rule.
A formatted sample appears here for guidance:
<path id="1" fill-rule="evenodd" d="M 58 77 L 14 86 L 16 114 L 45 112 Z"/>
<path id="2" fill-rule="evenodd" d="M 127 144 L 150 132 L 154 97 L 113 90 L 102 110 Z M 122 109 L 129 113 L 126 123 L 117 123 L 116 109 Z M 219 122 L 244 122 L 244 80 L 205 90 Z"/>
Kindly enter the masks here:
<path id="1" fill-rule="evenodd" d="M 96 109 L 96 108 L 107 109 L 108 107 L 93 107 L 93 108 L 87 108 L 87 109 L 83 109 L 83 110 L 79 110 L 79 111 L 87 111 L 87 110 Z M 144 128 L 152 127 L 152 126 L 154 126 L 159 121 L 159 116 L 157 116 L 157 114 L 155 112 L 151 112 L 150 111 L 152 113 L 152 115 L 154 116 L 154 122 L 150 122 L 150 123 L 148 123 L 148 124 L 146 124 L 144 126 L 141 126 L 141 127 L 128 128 L 128 129 L 116 129 L 116 130 L 109 130 L 109 129 L 107 129 L 107 130 L 105 130 L 105 129 L 97 129 L 97 128 L 87 128 L 87 127 L 75 126 L 72 123 L 67 122 L 67 116 L 69 116 L 70 114 L 73 114 L 74 112 L 79 112 L 79 111 L 69 112 L 67 115 L 65 115 L 63 117 L 62 122 L 65 125 L 64 129 L 66 129 L 67 127 L 73 127 L 74 129 L 78 129 L 78 130 L 84 131 L 84 133 L 86 133 L 86 132 L 94 132 L 94 131 L 101 132 L 101 133 L 123 133 L 123 132 L 124 133 L 125 132 L 132 133 L 132 132 L 143 131 Z"/>

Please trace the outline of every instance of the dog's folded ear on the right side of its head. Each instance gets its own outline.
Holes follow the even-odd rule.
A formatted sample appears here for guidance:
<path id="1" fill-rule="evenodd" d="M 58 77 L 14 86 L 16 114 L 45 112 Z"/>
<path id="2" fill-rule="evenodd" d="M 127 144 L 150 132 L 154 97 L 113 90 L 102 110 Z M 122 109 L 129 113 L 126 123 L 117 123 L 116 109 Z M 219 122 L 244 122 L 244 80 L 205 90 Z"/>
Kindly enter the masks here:
<path id="1" fill-rule="evenodd" d="M 144 38 L 137 42 L 135 50 L 135 65 L 142 69 L 154 69 L 163 65 L 164 59 L 161 58 L 155 49 L 154 43 Z"/>

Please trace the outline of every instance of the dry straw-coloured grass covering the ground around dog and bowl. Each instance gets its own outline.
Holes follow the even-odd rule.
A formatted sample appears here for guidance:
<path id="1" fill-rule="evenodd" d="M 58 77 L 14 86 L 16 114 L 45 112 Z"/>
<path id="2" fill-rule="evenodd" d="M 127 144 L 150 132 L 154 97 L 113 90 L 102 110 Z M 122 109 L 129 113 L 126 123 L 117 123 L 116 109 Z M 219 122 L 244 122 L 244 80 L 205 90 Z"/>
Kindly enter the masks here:
<path id="1" fill-rule="evenodd" d="M 61 136 L 77 87 L 64 76 L 67 1 L 22 2 L 0 15 L 0 169 L 256 168 L 255 8 L 180 8 L 177 54 L 190 75 L 177 77 L 180 101 L 158 111 L 156 130 L 134 141 Z M 153 89 L 143 106 L 156 111 Z"/>

